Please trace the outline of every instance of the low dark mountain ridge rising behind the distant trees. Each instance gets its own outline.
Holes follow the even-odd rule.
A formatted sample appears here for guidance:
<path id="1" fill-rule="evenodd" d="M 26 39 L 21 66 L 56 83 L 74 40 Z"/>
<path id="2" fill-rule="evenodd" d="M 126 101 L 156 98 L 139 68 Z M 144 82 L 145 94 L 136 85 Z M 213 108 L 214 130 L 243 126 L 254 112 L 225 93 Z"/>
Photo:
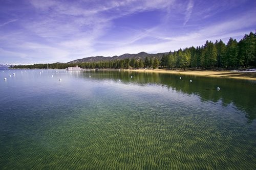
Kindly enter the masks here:
<path id="1" fill-rule="evenodd" d="M 86 57 L 82 59 L 77 59 L 67 63 L 74 64 L 74 63 L 86 63 L 86 62 L 98 62 L 98 61 L 113 61 L 113 60 L 123 60 L 126 58 L 129 58 L 129 59 L 135 58 L 136 60 L 138 59 L 144 60 L 146 57 L 148 58 L 156 57 L 158 59 L 161 59 L 164 54 L 168 54 L 168 53 L 148 54 L 145 52 L 140 52 L 138 54 L 123 54 L 121 56 L 113 56 L 113 57 L 96 56 L 96 57 Z"/>

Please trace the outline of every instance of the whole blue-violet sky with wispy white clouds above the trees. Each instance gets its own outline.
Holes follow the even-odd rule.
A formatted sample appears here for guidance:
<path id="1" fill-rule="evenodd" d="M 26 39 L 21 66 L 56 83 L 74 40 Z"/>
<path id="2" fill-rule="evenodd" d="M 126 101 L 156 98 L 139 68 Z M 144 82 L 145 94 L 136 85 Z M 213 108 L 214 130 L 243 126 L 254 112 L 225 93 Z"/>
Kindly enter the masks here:
<path id="1" fill-rule="evenodd" d="M 256 1 L 0 0 L 0 63 L 161 53 L 256 29 Z"/>

